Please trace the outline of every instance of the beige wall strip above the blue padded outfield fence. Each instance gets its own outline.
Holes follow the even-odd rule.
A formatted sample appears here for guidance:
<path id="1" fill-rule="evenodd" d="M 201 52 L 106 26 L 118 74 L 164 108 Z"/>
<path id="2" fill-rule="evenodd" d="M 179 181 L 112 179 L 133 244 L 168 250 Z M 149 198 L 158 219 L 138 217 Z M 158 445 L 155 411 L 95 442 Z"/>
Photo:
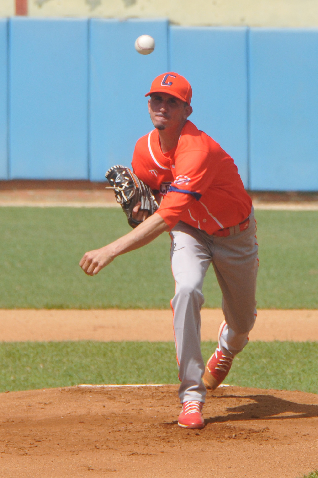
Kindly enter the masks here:
<path id="1" fill-rule="evenodd" d="M 0 0 L 0 15 L 15 0 Z M 318 0 L 28 0 L 29 16 L 169 18 L 180 25 L 318 26 Z"/>

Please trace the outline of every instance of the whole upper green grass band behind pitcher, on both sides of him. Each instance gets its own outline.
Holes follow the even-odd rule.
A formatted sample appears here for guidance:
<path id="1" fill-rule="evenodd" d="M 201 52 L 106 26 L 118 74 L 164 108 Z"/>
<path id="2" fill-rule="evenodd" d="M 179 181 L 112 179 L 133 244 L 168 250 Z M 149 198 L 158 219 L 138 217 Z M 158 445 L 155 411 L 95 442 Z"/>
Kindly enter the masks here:
<path id="1" fill-rule="evenodd" d="M 261 308 L 318 308 L 318 212 L 256 211 Z M 130 230 L 120 209 L 0 208 L 0 308 L 168 308 L 174 293 L 170 238 L 118 257 L 96 277 L 86 250 Z M 210 267 L 206 307 L 221 293 Z"/>

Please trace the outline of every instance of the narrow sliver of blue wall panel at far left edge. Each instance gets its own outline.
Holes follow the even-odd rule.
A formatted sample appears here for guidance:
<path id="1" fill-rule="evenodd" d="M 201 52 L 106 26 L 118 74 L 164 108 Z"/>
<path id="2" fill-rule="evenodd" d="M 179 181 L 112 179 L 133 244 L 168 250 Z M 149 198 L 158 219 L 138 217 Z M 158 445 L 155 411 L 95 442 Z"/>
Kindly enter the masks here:
<path id="1" fill-rule="evenodd" d="M 8 179 L 8 21 L 0 19 L 0 180 Z"/>

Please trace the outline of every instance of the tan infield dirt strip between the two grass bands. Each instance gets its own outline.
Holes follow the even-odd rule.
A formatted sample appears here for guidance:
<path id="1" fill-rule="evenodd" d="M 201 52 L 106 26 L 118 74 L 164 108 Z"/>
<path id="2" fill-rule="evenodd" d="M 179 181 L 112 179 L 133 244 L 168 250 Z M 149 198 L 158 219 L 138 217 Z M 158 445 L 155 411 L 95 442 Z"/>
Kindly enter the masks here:
<path id="1" fill-rule="evenodd" d="M 217 340 L 221 309 L 201 310 L 201 340 Z M 253 340 L 318 341 L 318 310 L 257 311 Z M 0 309 L 0 341 L 173 340 L 171 310 Z"/>

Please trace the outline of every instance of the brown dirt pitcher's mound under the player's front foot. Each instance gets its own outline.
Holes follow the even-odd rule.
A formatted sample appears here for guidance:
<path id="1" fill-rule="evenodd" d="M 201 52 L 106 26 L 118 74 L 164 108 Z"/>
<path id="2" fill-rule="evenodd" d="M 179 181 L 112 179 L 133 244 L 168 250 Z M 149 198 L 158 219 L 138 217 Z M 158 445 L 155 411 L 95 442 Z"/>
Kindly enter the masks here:
<path id="1" fill-rule="evenodd" d="M 223 387 L 203 430 L 177 385 L 0 394 L 1 477 L 296 478 L 318 467 L 318 395 Z"/>

